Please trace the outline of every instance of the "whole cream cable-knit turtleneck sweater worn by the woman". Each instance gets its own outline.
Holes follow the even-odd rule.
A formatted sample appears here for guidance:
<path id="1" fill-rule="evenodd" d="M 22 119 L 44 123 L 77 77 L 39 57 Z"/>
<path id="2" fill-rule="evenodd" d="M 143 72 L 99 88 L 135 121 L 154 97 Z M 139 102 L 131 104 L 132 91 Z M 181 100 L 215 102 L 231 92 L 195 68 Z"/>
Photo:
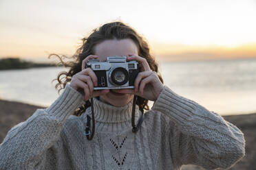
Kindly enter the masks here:
<path id="1" fill-rule="evenodd" d="M 167 86 L 138 132 L 132 132 L 132 101 L 114 107 L 94 99 L 96 129 L 85 136 L 83 96 L 69 85 L 49 108 L 12 127 L 0 145 L 0 169 L 227 168 L 244 156 L 244 135 L 215 112 Z M 136 121 L 141 112 L 136 108 Z"/>

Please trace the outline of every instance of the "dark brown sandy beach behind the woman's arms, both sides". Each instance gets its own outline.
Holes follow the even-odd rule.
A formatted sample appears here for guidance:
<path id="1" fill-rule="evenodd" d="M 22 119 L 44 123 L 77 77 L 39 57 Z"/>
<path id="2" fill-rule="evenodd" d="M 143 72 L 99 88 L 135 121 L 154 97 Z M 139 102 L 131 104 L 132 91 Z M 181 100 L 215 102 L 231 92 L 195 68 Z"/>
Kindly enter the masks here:
<path id="1" fill-rule="evenodd" d="M 22 104 L 15 101 L 5 101 L 0 99 L 0 143 L 11 127 L 25 121 L 40 106 Z M 246 138 L 246 156 L 237 162 L 231 169 L 255 169 L 256 167 L 256 113 L 225 116 L 224 119 L 239 127 Z M 202 169 L 193 165 L 186 165 L 182 170 Z"/>

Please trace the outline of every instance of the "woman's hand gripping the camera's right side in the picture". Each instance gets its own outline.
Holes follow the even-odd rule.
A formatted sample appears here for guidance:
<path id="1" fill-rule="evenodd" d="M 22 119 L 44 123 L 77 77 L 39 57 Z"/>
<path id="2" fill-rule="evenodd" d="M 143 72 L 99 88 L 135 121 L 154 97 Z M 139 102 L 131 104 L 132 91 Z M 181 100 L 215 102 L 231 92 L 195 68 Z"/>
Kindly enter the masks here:
<path id="1" fill-rule="evenodd" d="M 158 74 L 155 71 L 151 71 L 145 58 L 129 55 L 127 61 L 131 60 L 136 60 L 141 66 L 140 73 L 138 73 L 134 82 L 134 89 L 122 89 L 118 90 L 118 93 L 132 93 L 145 99 L 156 101 L 162 88 L 164 88 Z"/>

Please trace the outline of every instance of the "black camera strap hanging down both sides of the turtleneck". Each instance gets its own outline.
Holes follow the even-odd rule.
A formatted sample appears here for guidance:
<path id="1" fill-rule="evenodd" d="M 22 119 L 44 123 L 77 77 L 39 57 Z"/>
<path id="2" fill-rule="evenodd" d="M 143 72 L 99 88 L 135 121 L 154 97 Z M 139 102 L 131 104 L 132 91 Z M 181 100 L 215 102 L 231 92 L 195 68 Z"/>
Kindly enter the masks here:
<path id="1" fill-rule="evenodd" d="M 138 120 L 137 125 L 135 125 L 135 108 L 136 108 L 136 101 L 137 101 L 137 96 L 134 95 L 134 101 L 132 104 L 132 113 L 131 113 L 131 125 L 132 125 L 132 132 L 136 133 L 138 132 L 138 128 L 142 124 L 144 120 L 144 112 L 143 110 L 140 110 L 142 112 L 142 115 L 140 116 L 140 119 Z M 91 117 L 87 114 L 87 122 L 85 126 L 85 136 L 86 138 L 91 141 L 92 138 L 94 137 L 94 131 L 95 131 L 95 119 L 94 119 L 94 100 L 93 98 L 91 99 L 91 108 L 92 108 L 92 132 L 90 130 L 90 122 L 91 122 Z M 89 136 L 91 135 L 91 136 Z"/>

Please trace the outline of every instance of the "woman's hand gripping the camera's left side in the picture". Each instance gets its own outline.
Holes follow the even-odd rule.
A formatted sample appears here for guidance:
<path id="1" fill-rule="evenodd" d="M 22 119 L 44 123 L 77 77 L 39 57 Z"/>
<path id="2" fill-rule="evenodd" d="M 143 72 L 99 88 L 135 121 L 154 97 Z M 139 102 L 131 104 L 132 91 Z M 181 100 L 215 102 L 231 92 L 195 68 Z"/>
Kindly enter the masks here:
<path id="1" fill-rule="evenodd" d="M 96 59 L 98 56 L 89 55 L 82 62 L 82 71 L 73 75 L 70 82 L 70 86 L 82 93 L 85 97 L 84 100 L 87 101 L 92 97 L 98 97 L 100 95 L 105 95 L 109 93 L 108 89 L 105 90 L 94 90 L 94 86 L 97 86 L 97 77 L 91 68 L 85 69 L 85 64 L 89 59 Z"/>

